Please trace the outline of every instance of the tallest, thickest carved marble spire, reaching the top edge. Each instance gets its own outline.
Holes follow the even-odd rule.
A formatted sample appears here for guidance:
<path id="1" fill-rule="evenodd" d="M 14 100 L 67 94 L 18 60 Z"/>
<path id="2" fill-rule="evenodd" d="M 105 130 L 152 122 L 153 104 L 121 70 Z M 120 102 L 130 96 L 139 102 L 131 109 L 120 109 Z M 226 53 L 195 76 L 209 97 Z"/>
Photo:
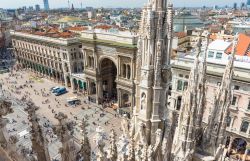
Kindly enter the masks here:
<path id="1" fill-rule="evenodd" d="M 148 145 L 155 143 L 156 131 L 165 118 L 171 76 L 172 10 L 166 0 L 149 0 L 142 11 L 136 61 L 135 131 L 142 123 Z M 135 138 L 138 140 L 141 139 Z"/>

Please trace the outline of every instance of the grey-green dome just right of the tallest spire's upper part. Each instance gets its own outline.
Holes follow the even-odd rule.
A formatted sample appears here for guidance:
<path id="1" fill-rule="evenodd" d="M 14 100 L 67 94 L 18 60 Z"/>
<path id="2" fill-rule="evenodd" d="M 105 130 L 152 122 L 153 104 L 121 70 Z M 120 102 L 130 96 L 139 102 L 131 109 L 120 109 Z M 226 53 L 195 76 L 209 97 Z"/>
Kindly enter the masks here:
<path id="1" fill-rule="evenodd" d="M 190 13 L 182 13 L 174 17 L 174 31 L 183 32 L 185 29 L 194 29 L 196 27 L 204 27 L 204 23 L 199 17 L 191 15 Z"/>

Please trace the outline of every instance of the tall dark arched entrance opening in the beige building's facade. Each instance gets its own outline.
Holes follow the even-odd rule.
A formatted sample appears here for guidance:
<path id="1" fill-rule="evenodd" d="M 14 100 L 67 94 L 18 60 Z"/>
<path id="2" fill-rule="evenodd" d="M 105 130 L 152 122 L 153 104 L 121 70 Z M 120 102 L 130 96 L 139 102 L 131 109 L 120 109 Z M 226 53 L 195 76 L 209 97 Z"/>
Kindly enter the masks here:
<path id="1" fill-rule="evenodd" d="M 115 63 L 104 58 L 100 62 L 100 91 L 99 97 L 102 101 L 117 101 L 117 89 L 116 89 L 116 78 L 117 78 L 117 67 Z"/>

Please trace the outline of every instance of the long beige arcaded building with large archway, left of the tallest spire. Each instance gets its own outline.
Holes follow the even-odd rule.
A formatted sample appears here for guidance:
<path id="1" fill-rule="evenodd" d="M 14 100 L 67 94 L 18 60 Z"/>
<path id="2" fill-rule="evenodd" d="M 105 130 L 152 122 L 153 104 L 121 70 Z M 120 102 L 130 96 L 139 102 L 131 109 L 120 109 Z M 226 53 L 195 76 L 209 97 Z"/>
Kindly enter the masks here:
<path id="1" fill-rule="evenodd" d="M 36 73 L 88 93 L 96 103 L 112 100 L 120 112 L 135 104 L 137 35 L 71 27 L 70 31 L 11 31 L 19 63 Z"/>

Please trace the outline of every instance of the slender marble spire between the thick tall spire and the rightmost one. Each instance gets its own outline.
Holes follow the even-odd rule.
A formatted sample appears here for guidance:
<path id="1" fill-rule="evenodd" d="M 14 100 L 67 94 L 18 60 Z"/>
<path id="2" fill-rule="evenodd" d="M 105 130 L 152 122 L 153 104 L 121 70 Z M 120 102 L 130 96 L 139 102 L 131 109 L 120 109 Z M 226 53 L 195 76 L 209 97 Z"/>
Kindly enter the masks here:
<path id="1" fill-rule="evenodd" d="M 193 68 L 190 71 L 187 89 L 183 94 L 180 110 L 174 155 L 176 161 L 191 161 L 198 141 L 197 129 L 201 129 L 201 121 L 205 108 L 206 96 L 206 54 L 200 61 L 202 37 L 199 36 Z M 208 46 L 209 34 L 207 35 Z M 205 50 L 205 53 L 206 53 Z"/>

